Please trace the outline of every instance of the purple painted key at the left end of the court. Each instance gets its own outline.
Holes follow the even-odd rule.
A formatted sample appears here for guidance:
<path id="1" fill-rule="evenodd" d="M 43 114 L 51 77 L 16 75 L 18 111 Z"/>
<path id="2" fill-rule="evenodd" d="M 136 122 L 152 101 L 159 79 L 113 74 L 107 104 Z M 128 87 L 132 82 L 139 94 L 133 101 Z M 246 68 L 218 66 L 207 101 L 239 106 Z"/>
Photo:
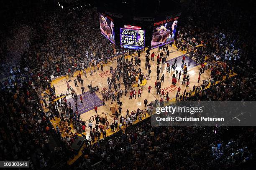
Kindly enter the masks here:
<path id="1" fill-rule="evenodd" d="M 100 93 L 99 93 L 100 94 Z M 82 95 L 83 97 L 83 103 L 80 102 L 80 95 Z M 95 92 L 90 93 L 85 92 L 84 94 L 79 94 L 77 95 L 77 107 L 78 107 L 78 113 L 79 115 L 88 112 L 90 110 L 93 110 L 95 106 L 100 107 L 102 106 L 102 100 L 100 100 L 100 97 L 98 97 L 98 95 L 96 95 Z M 76 111 L 76 107 L 75 107 L 75 101 L 73 98 L 69 98 L 67 99 L 67 103 L 71 103 L 71 105 L 73 106 L 73 110 L 74 112 Z"/>

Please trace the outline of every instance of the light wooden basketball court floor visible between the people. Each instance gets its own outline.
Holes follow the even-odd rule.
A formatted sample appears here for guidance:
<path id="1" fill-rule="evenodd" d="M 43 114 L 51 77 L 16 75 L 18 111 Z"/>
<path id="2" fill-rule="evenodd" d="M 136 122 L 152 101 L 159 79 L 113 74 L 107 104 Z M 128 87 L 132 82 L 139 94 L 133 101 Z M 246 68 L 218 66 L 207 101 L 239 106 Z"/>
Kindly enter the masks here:
<path id="1" fill-rule="evenodd" d="M 167 72 L 166 70 L 166 64 L 163 70 L 163 74 L 165 76 L 164 78 L 164 82 L 161 83 L 161 90 L 164 89 L 165 93 L 169 92 L 169 97 L 172 100 L 175 100 L 175 95 L 177 93 L 177 88 L 180 86 L 181 87 L 181 92 L 183 92 L 185 89 L 188 92 L 189 90 L 192 90 L 192 87 L 194 85 L 200 85 L 202 83 L 202 80 L 208 79 L 210 77 L 210 71 L 209 70 L 205 70 L 205 73 L 201 75 L 201 79 L 200 82 L 198 83 L 198 75 L 199 75 L 199 68 L 201 67 L 199 63 L 195 62 L 195 60 L 189 58 L 187 55 L 184 54 L 184 52 L 181 52 L 180 50 L 177 50 L 177 48 L 175 46 L 173 47 L 168 47 L 169 51 L 171 52 L 169 57 L 167 57 L 166 59 L 166 63 L 169 62 L 170 65 L 172 65 L 174 63 L 175 58 L 177 58 L 178 62 L 177 62 L 177 67 L 175 68 L 175 71 L 172 69 L 171 72 Z M 151 53 L 154 52 L 157 54 L 157 50 L 158 48 L 155 48 L 153 50 L 151 50 Z M 121 115 L 125 116 L 126 115 L 126 110 L 128 109 L 130 112 L 132 110 L 137 110 L 137 108 L 139 109 L 145 109 L 144 107 L 144 99 L 147 99 L 148 102 L 150 101 L 154 101 L 156 99 L 160 100 L 161 97 L 160 95 L 156 94 L 156 89 L 155 87 L 155 81 L 156 81 L 156 67 L 157 67 L 157 61 L 156 61 L 156 57 L 154 62 L 150 60 L 150 65 L 151 65 L 151 74 L 150 77 L 146 77 L 147 76 L 147 70 L 145 70 L 145 55 L 146 53 L 141 53 L 141 69 L 142 72 L 144 72 L 144 81 L 143 81 L 143 92 L 141 94 L 141 97 L 136 97 L 133 98 L 132 100 L 129 100 L 129 93 L 125 96 L 123 95 L 123 97 L 120 99 L 121 102 L 123 102 L 123 106 L 122 106 L 122 112 Z M 186 59 L 185 59 L 185 63 L 187 64 L 188 67 L 188 75 L 190 77 L 190 84 L 189 87 L 186 87 L 185 84 L 181 84 L 182 83 L 182 77 L 181 79 L 177 81 L 176 85 L 172 85 L 172 75 L 174 73 L 176 73 L 176 70 L 180 71 L 182 70 L 183 64 L 182 64 L 182 57 L 185 55 Z M 127 56 L 128 59 L 130 60 L 131 56 Z M 97 73 L 94 73 L 93 75 L 90 75 L 89 71 L 87 70 L 87 77 L 84 76 L 83 72 L 81 72 L 81 77 L 84 80 L 84 84 L 83 86 L 85 87 L 84 91 L 85 93 L 82 94 L 82 90 L 81 90 L 81 84 L 78 82 L 79 87 L 75 87 L 74 85 L 74 79 L 76 77 L 72 77 L 72 78 L 59 78 L 58 80 L 54 80 L 52 82 L 52 85 L 54 85 L 55 87 L 55 91 L 56 91 L 56 96 L 60 96 L 60 94 L 66 94 L 67 92 L 67 84 L 66 81 L 69 81 L 69 85 L 77 92 L 78 95 L 78 112 L 82 118 L 82 120 L 89 122 L 89 120 L 93 121 L 93 124 L 95 124 L 95 120 L 93 117 L 95 117 L 95 115 L 97 114 L 101 114 L 102 112 L 104 112 L 105 114 L 107 114 L 107 119 L 110 122 L 113 122 L 114 116 L 112 115 L 111 111 L 110 111 L 110 103 L 111 100 L 106 101 L 106 106 L 102 105 L 102 95 L 101 95 L 101 90 L 103 87 L 106 87 L 108 89 L 108 82 L 107 79 L 108 77 L 111 78 L 111 74 L 110 74 L 110 65 L 115 68 L 117 66 L 117 60 L 113 60 L 111 62 L 108 62 L 108 65 L 105 65 L 103 68 L 103 71 L 97 70 Z M 159 65 L 160 67 L 161 65 Z M 138 69 L 139 67 L 136 67 L 136 69 Z M 75 76 L 78 74 L 79 72 L 75 73 Z M 182 72 L 183 73 L 183 72 Z M 161 73 L 160 73 L 160 77 L 161 77 Z M 92 82 L 92 87 L 95 87 L 96 85 L 100 88 L 99 92 L 89 92 L 89 88 L 87 87 L 87 85 L 90 84 L 90 82 Z M 120 82 L 122 82 L 122 79 L 120 79 Z M 151 86 L 151 92 L 148 93 L 148 86 Z M 133 87 L 135 88 L 135 90 L 138 92 L 139 88 L 142 87 Z M 121 87 L 120 89 L 125 90 L 124 85 L 121 83 Z M 138 93 L 137 93 L 138 94 Z M 80 95 L 82 95 L 83 97 L 83 103 L 81 103 L 79 101 L 79 97 Z M 74 98 L 71 95 L 67 96 L 67 102 L 71 102 L 72 106 L 74 106 Z M 94 107 L 97 106 L 98 107 L 98 111 L 97 114 L 95 113 Z M 75 111 L 76 108 L 73 107 L 73 110 Z M 88 132 L 90 128 L 87 128 L 87 135 L 90 134 Z"/>

